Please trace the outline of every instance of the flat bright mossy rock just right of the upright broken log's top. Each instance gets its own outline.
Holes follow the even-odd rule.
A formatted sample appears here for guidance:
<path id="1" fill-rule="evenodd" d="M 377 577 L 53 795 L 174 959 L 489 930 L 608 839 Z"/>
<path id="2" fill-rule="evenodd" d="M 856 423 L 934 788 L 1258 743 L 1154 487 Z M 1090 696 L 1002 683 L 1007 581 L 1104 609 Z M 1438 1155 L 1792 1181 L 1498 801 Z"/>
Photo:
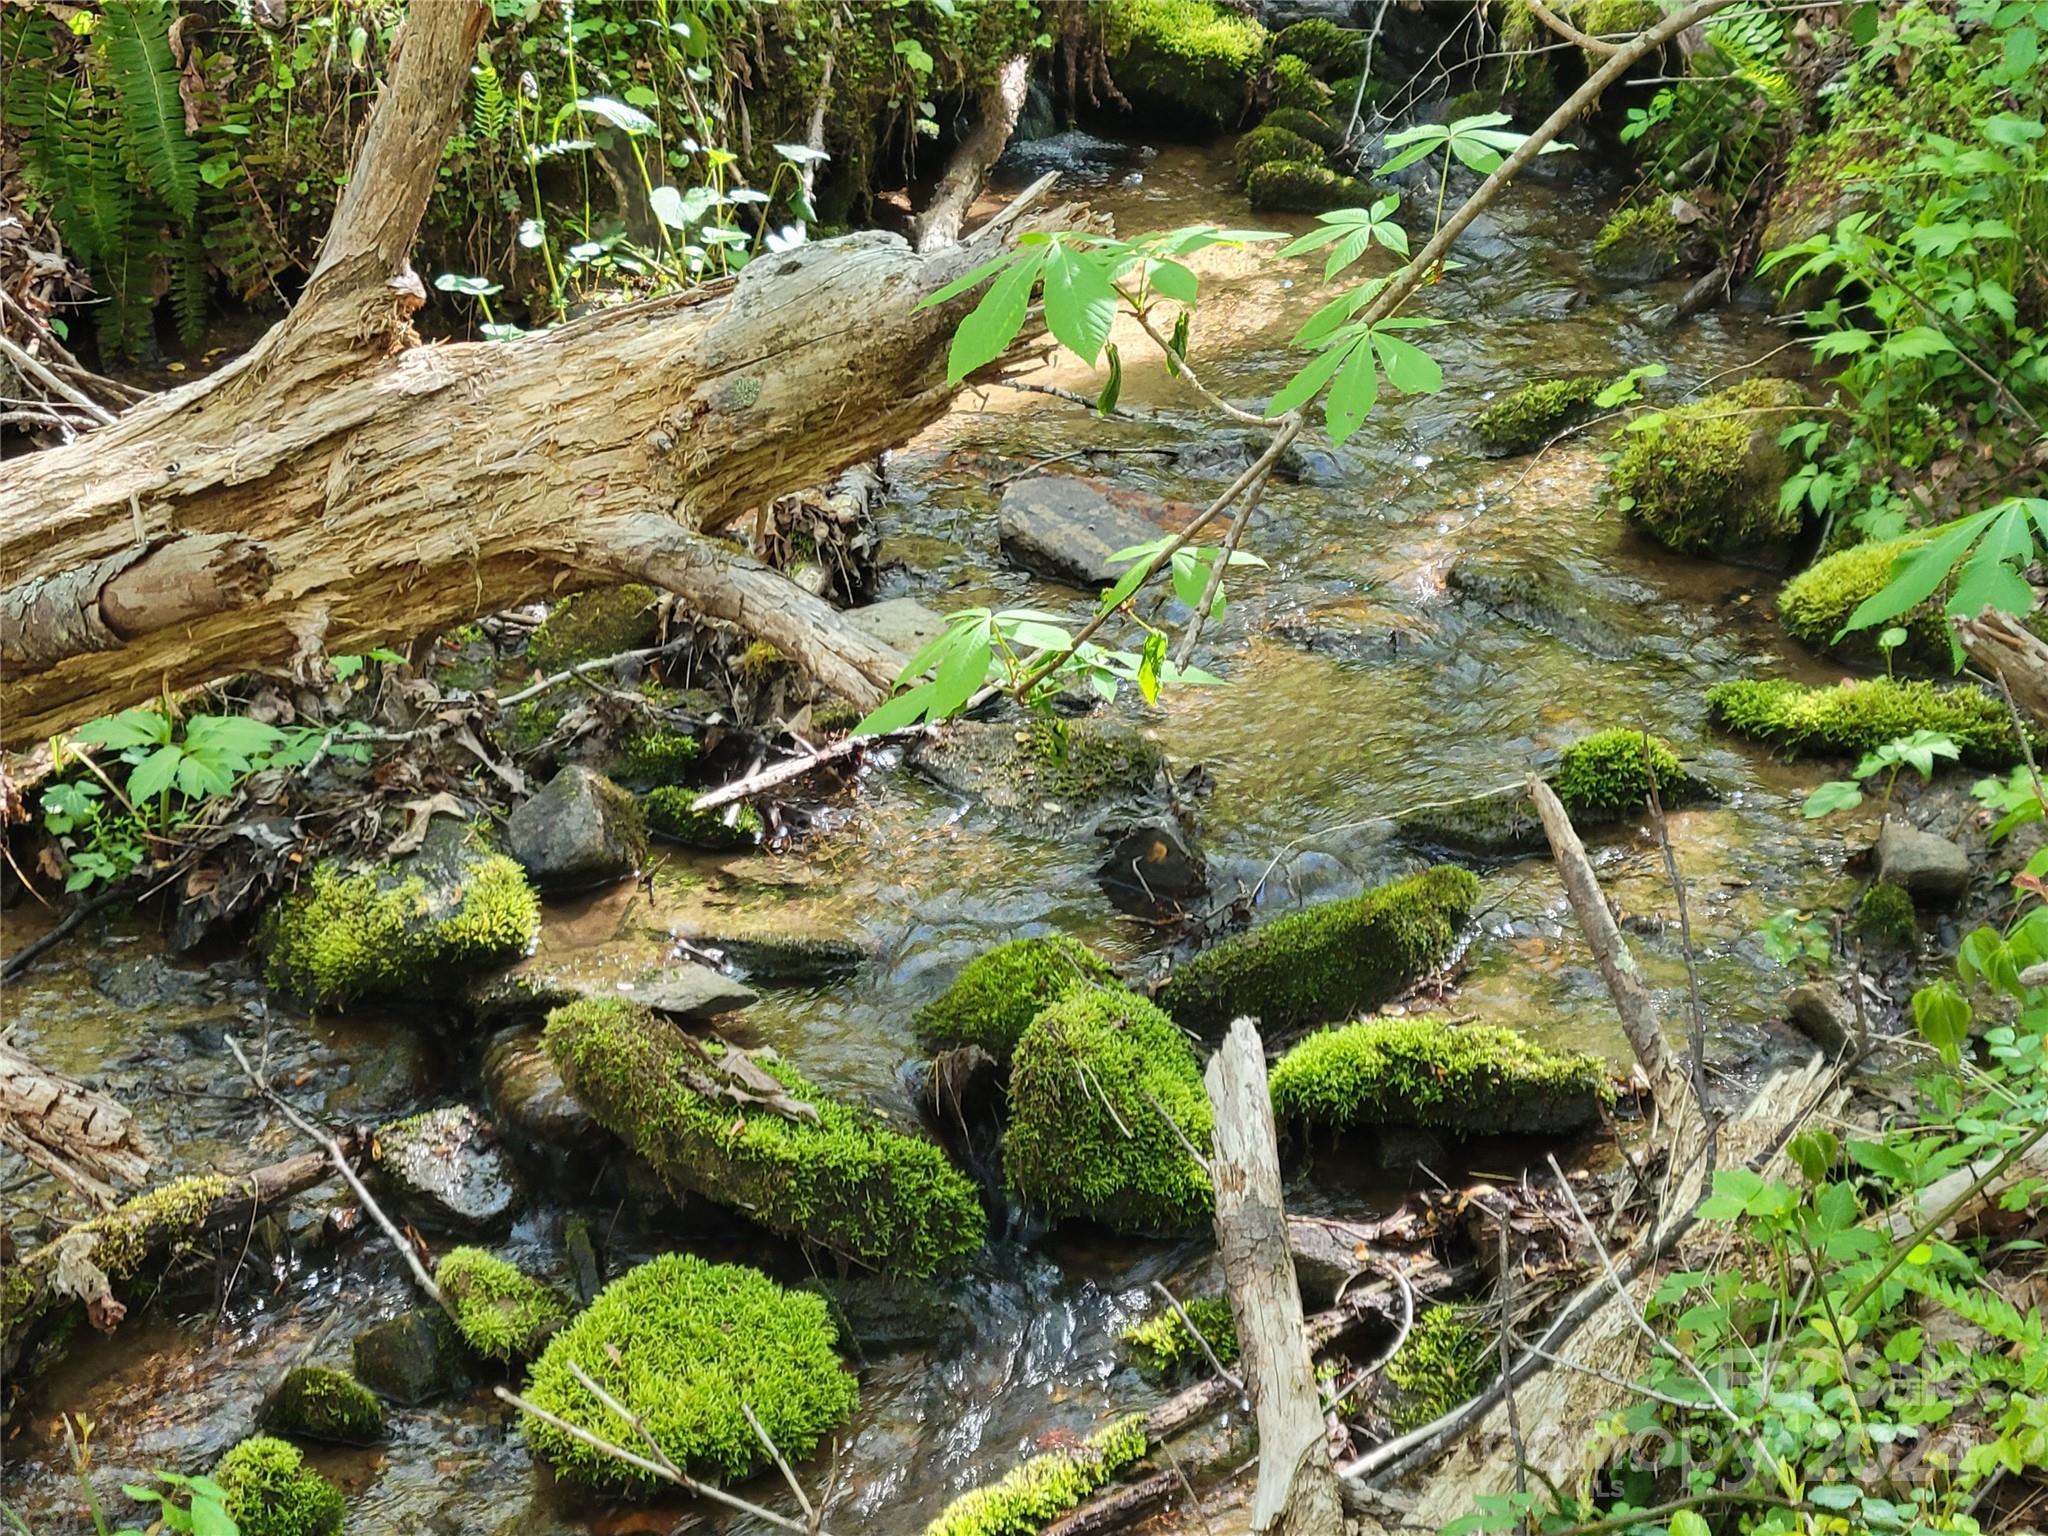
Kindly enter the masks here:
<path id="1" fill-rule="evenodd" d="M 1311 1130 L 1419 1126 L 1569 1135 L 1612 1102 L 1599 1057 L 1544 1051 L 1516 1030 L 1368 1018 L 1311 1034 L 1272 1069 L 1274 1116 Z"/>

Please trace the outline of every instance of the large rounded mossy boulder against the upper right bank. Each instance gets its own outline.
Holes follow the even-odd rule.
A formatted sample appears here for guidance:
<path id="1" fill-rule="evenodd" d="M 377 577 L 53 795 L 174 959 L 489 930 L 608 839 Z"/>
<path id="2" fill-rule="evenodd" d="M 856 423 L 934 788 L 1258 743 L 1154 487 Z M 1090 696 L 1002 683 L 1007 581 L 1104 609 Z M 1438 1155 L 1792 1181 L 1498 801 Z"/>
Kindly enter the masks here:
<path id="1" fill-rule="evenodd" d="M 1745 379 L 1628 432 L 1614 463 L 1616 504 L 1681 555 L 1772 559 L 1798 537 L 1802 504 L 1782 506 L 1792 465 L 1778 444 L 1806 408 L 1790 379 Z"/>

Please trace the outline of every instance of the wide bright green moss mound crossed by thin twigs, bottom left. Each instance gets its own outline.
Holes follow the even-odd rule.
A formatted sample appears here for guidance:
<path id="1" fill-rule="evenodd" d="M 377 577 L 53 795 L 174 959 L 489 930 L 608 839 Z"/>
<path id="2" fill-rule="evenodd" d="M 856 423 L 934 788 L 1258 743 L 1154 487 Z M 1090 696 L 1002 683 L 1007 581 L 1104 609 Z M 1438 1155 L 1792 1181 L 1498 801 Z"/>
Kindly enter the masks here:
<path id="1" fill-rule="evenodd" d="M 768 1452 L 741 1413 L 791 1460 L 846 1423 L 860 1386 L 840 1364 L 823 1296 L 784 1290 L 760 1270 L 666 1253 L 612 1280 L 532 1364 L 526 1401 L 616 1444 L 633 1434 L 569 1372 L 582 1366 L 625 1403 L 664 1454 L 696 1477 L 741 1479 Z M 528 1444 L 571 1483 L 651 1493 L 649 1473 L 528 1415 Z"/>

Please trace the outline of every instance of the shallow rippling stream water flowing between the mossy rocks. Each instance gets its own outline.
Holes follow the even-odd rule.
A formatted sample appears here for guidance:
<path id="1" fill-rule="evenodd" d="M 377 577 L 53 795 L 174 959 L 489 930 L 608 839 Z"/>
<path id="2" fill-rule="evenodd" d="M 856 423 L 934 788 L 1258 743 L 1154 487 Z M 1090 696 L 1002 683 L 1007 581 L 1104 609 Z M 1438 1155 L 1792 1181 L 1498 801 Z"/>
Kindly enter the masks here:
<path id="1" fill-rule="evenodd" d="M 1090 201 L 1124 231 L 1245 217 L 1227 190 L 1227 147 L 1130 154 L 1049 141 L 1034 154 L 1077 166 Z M 1812 664 L 1790 655 L 1776 633 L 1774 578 L 1671 559 L 1597 506 L 1597 446 L 1565 444 L 1534 465 L 1489 463 L 1473 455 L 1462 422 L 1489 391 L 1530 377 L 1657 360 L 1671 373 L 1655 387 L 1673 399 L 1763 356 L 1774 336 L 1745 311 L 1665 332 L 1655 328 L 1655 311 L 1675 291 L 1602 293 L 1583 254 L 1604 217 L 1604 193 L 1589 174 L 1546 172 L 1475 225 L 1466 266 L 1432 295 L 1434 313 L 1452 319 L 1427 338 L 1446 391 L 1382 397 L 1368 430 L 1337 451 L 1335 483 L 1270 487 L 1247 537 L 1268 569 L 1235 580 L 1229 618 L 1204 639 L 1204 664 L 1231 686 L 1169 692 L 1153 711 L 1126 700 L 1126 711 L 1176 764 L 1210 768 L 1214 791 L 1200 815 L 1212 864 L 1245 887 L 1272 864 L 1262 889 L 1268 907 L 1350 893 L 1419 862 L 1376 825 L 1403 807 L 1516 782 L 1589 729 L 1640 725 L 1669 737 L 1694 772 L 1722 791 L 1714 805 L 1675 813 L 1671 838 L 1690 881 L 1714 1022 L 1708 1059 L 1720 1073 L 1745 1075 L 1772 1049 L 1765 1024 L 1782 987 L 1755 930 L 1780 907 L 1812 903 L 1839 877 L 1839 860 L 1817 854 L 1819 844 L 1798 823 L 1794 797 L 1808 780 L 1708 733 L 1700 690 L 1751 666 L 1810 674 Z M 1014 174 L 1028 178 L 1032 164 L 1014 166 Z M 1233 252 L 1210 252 L 1198 264 L 1204 303 L 1192 358 L 1212 387 L 1255 403 L 1288 377 L 1294 354 L 1286 340 L 1327 297 L 1321 268 Z M 1118 332 L 1118 342 L 1122 399 L 1165 412 L 1184 428 L 1102 422 L 1004 389 L 965 397 L 891 459 L 887 596 L 915 594 L 936 608 L 997 602 L 1053 608 L 1075 623 L 1085 616 L 1090 594 L 1034 582 L 999 561 L 991 479 L 1083 444 L 1145 446 L 1210 432 L 1180 385 L 1147 360 L 1141 336 Z M 1092 387 L 1073 367 L 1036 377 Z M 1161 469 L 1155 457 L 1081 469 L 1196 504 L 1227 479 Z M 1475 553 L 1567 559 L 1581 580 L 1622 596 L 1636 653 L 1599 659 L 1456 602 L 1446 569 Z M 1300 643 L 1305 635 L 1317 649 Z M 995 940 L 1063 930 L 1133 963 L 1157 948 L 1149 928 L 1108 907 L 1094 883 L 1096 850 L 1083 842 L 1008 831 L 977 807 L 885 766 L 850 788 L 842 807 L 844 823 L 801 854 L 745 860 L 737 872 L 719 860 L 672 864 L 653 909 L 662 922 L 770 913 L 868 944 L 877 958 L 858 975 L 768 989 L 748 1014 L 752 1034 L 829 1087 L 911 1114 L 903 1071 L 913 1055 L 909 1014 Z M 1595 846 L 1595 858 L 1632 920 L 1665 1018 L 1681 1018 L 1683 958 L 1655 846 L 1622 829 Z M 1489 866 L 1485 887 L 1458 1012 L 1626 1061 L 1548 862 Z M 10 930 L 12 948 L 25 934 L 20 922 Z M 104 938 L 96 952 L 74 944 L 27 987 L 6 993 L 6 1006 L 23 1049 L 53 1067 L 100 1075 L 137 1106 L 172 1149 L 176 1171 L 246 1167 L 297 1151 L 289 1130 L 242 1096 L 223 1030 L 268 1034 L 281 1081 L 332 1120 L 375 1120 L 473 1096 L 463 1049 L 438 1044 L 418 1020 L 293 1020 L 268 1008 L 236 967 L 188 985 L 174 1006 L 117 1004 L 90 987 L 88 965 L 147 950 L 131 934 Z M 10 1200 L 43 1198 L 16 1178 L 18 1163 L 6 1167 Z M 578 1188 L 535 1188 L 506 1251 L 559 1274 L 557 1221 L 578 1198 Z M 1393 1198 L 1395 1190 L 1364 1171 L 1331 1184 L 1296 1180 L 1290 1190 L 1300 1208 L 1354 1214 Z M 319 1202 L 311 1204 L 317 1210 Z M 590 1214 L 600 1231 L 612 1231 L 616 1212 Z M 623 1235 L 614 1243 L 612 1272 L 639 1251 L 637 1241 Z M 758 1243 L 727 1241 L 717 1251 L 788 1266 L 786 1253 L 760 1251 Z M 1208 1264 L 1200 1243 L 1010 1237 L 991 1247 L 954 1288 L 948 1337 L 866 1358 L 864 1407 L 838 1458 L 838 1528 L 918 1530 L 946 1497 L 999 1473 L 1042 1436 L 1085 1432 L 1108 1411 L 1153 1401 L 1151 1389 L 1120 1368 L 1116 1329 L 1147 1309 L 1149 1280 L 1178 1278 L 1186 1294 L 1202 1288 Z M 252 1243 L 242 1282 L 203 1315 L 158 1315 L 115 1339 L 74 1348 L 39 1391 L 25 1432 L 6 1446 L 6 1497 L 39 1534 L 78 1530 L 55 1411 L 82 1411 L 98 1423 L 94 1481 L 119 1505 L 113 1485 L 121 1475 L 152 1464 L 199 1470 L 250 1430 L 254 1405 L 285 1366 L 346 1360 L 352 1331 L 406 1305 L 406 1284 L 377 1245 L 348 1243 L 307 1262 L 272 1260 Z M 387 1446 L 315 1458 L 352 1493 L 350 1532 L 668 1530 L 682 1513 L 594 1516 L 561 1501 L 483 1391 L 391 1417 Z M 809 1468 L 813 1485 L 823 1481 L 825 1460 Z M 782 1503 L 770 1483 L 750 1493 Z M 721 1528 L 719 1516 L 692 1513 Z"/>

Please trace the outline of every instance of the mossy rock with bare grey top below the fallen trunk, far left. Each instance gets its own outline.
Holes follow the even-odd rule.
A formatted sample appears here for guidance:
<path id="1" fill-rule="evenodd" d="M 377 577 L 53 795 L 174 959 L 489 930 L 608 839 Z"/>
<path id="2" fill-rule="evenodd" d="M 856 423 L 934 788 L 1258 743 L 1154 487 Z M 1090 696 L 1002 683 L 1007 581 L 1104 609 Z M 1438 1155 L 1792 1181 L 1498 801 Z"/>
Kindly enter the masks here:
<path id="1" fill-rule="evenodd" d="M 440 997 L 463 977 L 520 958 L 541 932 L 526 872 L 436 823 L 426 846 L 350 874 L 319 864 L 264 924 L 264 977 L 305 1008 L 362 997 Z"/>

